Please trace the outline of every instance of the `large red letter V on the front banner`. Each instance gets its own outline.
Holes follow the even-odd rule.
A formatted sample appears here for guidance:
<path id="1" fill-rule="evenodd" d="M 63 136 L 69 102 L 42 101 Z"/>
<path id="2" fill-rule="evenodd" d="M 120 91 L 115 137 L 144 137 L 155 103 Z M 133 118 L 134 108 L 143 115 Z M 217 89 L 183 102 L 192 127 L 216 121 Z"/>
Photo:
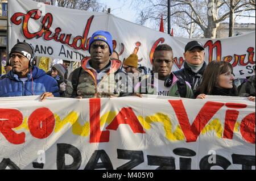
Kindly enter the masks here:
<path id="1" fill-rule="evenodd" d="M 224 106 L 224 103 L 218 102 L 205 103 L 192 125 L 190 125 L 182 100 L 168 100 L 168 102 L 170 102 L 171 106 L 174 108 L 181 130 L 183 131 L 187 142 L 196 141 L 205 125 L 207 125 L 213 115 Z"/>

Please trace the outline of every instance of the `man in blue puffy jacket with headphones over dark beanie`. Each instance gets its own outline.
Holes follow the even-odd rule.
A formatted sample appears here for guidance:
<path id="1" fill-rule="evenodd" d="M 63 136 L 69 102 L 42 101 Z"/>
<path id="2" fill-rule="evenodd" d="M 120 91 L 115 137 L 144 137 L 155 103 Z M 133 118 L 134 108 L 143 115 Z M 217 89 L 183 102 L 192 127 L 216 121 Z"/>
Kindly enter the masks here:
<path id="1" fill-rule="evenodd" d="M 9 57 L 13 69 L 0 81 L 0 97 L 41 95 L 43 100 L 59 96 L 57 81 L 34 66 L 35 53 L 30 44 L 17 43 Z"/>

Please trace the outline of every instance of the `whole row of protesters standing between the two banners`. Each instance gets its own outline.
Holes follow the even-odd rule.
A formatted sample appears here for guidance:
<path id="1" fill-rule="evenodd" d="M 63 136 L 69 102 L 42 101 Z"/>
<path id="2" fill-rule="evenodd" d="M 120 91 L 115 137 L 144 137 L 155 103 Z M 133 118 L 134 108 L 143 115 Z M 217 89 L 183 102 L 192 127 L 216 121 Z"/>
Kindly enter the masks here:
<path id="1" fill-rule="evenodd" d="M 14 45 L 0 78 L 0 97 L 41 95 L 67 98 L 105 98 L 141 94 L 204 99 L 207 95 L 246 96 L 255 102 L 255 75 L 240 87 L 234 85 L 229 62 L 204 61 L 204 46 L 190 41 L 184 48 L 184 68 L 173 72 L 174 53 L 170 45 L 156 47 L 152 70 L 138 66 L 137 54 L 119 60 L 112 35 L 96 31 L 89 41 L 90 59 L 68 76 L 68 60 L 55 64 L 47 73 L 35 66 L 35 53 L 28 43 Z"/>

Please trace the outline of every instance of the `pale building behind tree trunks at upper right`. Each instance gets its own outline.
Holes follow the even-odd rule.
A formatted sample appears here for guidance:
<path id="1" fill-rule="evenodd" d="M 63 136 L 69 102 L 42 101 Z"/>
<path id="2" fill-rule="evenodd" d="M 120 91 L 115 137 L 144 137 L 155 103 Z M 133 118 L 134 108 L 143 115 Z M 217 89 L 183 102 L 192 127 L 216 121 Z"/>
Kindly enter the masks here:
<path id="1" fill-rule="evenodd" d="M 254 23 L 235 23 L 233 36 L 244 35 L 255 31 Z M 216 32 L 216 38 L 229 37 L 229 23 L 221 23 Z"/>

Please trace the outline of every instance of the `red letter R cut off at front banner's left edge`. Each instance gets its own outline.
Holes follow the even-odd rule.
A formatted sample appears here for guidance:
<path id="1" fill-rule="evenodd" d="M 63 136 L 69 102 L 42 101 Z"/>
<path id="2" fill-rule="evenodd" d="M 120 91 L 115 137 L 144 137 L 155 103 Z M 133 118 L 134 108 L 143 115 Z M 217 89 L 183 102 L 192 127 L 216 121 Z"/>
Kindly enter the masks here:
<path id="1" fill-rule="evenodd" d="M 25 133 L 15 133 L 13 128 L 22 124 L 23 116 L 18 110 L 0 108 L 0 132 L 6 140 L 12 144 L 18 145 L 25 142 Z"/>

